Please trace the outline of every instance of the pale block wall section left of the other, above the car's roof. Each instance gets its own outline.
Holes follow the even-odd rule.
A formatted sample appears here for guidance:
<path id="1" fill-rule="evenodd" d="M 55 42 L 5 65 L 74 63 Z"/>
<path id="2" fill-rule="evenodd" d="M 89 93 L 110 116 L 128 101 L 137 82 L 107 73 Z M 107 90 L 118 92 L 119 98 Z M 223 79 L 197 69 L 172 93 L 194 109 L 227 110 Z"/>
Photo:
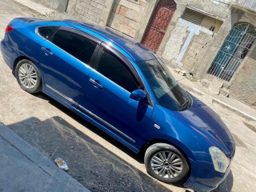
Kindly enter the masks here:
<path id="1" fill-rule="evenodd" d="M 78 0 L 74 12 L 81 15 L 86 22 L 98 23 L 106 0 Z"/>

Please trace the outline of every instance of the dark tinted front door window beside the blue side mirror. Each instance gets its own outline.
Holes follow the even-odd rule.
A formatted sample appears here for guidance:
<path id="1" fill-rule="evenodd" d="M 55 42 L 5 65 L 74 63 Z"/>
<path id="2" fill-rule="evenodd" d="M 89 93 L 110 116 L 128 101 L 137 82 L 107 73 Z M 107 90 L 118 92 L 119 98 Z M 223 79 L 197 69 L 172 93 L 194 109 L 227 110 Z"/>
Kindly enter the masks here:
<path id="1" fill-rule="evenodd" d="M 124 66 L 125 64 L 107 50 L 102 51 L 102 58 L 98 63 L 97 70 L 106 78 L 109 78 L 118 86 L 132 92 L 138 89 L 134 78 Z"/>

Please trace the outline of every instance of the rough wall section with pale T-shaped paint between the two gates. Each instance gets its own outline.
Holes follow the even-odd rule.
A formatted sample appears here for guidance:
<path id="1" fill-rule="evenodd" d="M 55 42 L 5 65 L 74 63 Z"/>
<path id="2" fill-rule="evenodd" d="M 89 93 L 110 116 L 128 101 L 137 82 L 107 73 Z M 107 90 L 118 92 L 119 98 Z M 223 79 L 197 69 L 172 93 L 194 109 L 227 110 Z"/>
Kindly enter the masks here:
<path id="1" fill-rule="evenodd" d="M 198 60 L 204 55 L 212 35 L 212 31 L 179 18 L 171 31 L 162 58 L 170 61 L 172 65 L 181 66 L 194 73 L 196 70 L 193 69 L 198 66 Z"/>

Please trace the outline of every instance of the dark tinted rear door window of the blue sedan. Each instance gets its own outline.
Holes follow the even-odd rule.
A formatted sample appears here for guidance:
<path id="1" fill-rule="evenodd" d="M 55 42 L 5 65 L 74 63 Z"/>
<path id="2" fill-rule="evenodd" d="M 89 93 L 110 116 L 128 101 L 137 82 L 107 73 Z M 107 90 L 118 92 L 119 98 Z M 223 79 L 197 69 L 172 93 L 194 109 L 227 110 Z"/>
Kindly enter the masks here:
<path id="1" fill-rule="evenodd" d="M 88 38 L 66 30 L 58 30 L 53 42 L 62 50 L 66 50 L 66 52 L 85 63 L 90 62 L 90 58 L 97 46 L 95 42 L 90 41 Z"/>

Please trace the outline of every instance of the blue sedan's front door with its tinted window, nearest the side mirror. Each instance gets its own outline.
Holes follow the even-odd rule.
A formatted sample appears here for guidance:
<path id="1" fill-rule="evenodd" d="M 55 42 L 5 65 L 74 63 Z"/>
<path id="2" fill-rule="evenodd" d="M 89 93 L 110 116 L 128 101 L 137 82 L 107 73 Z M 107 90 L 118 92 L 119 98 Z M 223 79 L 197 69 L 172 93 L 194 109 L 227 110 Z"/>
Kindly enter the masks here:
<path id="1" fill-rule="evenodd" d="M 153 108 L 130 98 L 130 93 L 142 86 L 126 63 L 106 48 L 100 53 L 79 106 L 107 127 L 108 134 L 136 151 L 146 142 L 142 133 L 150 122 Z"/>

